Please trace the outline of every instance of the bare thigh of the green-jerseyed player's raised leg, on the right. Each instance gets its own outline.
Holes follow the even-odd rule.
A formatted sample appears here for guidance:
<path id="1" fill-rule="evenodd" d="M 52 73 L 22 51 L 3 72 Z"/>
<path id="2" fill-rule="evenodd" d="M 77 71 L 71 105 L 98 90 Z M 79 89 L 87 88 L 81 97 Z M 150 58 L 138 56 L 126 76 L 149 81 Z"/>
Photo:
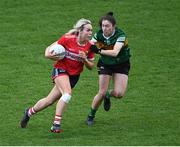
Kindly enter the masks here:
<path id="1" fill-rule="evenodd" d="M 114 91 L 124 95 L 127 84 L 128 76 L 126 74 L 115 73 L 113 74 Z"/>

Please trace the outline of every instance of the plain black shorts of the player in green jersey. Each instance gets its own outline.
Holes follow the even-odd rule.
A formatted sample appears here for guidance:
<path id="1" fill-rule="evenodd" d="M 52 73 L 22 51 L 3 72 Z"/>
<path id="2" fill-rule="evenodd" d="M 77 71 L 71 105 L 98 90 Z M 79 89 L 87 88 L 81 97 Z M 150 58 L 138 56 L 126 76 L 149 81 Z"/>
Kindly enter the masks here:
<path id="1" fill-rule="evenodd" d="M 130 70 L 130 61 L 123 62 L 117 65 L 105 65 L 101 60 L 97 64 L 98 74 L 105 74 L 112 76 L 113 73 L 121 73 L 128 75 Z"/>

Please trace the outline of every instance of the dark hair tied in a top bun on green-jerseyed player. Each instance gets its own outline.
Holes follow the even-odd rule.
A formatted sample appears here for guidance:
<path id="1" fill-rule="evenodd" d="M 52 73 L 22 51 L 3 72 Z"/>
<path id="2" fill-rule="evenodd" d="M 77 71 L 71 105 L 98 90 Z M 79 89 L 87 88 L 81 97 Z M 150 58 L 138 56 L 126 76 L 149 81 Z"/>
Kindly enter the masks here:
<path id="1" fill-rule="evenodd" d="M 99 19 L 99 26 L 100 27 L 102 27 L 102 21 L 103 20 L 108 20 L 109 22 L 112 23 L 113 26 L 116 24 L 116 19 L 113 16 L 113 12 L 108 12 Z"/>

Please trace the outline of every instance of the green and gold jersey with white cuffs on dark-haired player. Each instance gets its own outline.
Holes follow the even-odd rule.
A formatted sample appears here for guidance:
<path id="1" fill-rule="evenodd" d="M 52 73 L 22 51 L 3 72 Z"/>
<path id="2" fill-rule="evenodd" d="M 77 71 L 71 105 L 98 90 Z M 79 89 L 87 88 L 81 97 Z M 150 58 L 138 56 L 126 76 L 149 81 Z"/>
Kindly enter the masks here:
<path id="1" fill-rule="evenodd" d="M 106 65 L 120 64 L 129 60 L 131 56 L 130 48 L 128 47 L 128 40 L 125 33 L 121 29 L 116 28 L 114 34 L 109 38 L 104 37 L 102 30 L 99 30 L 94 34 L 93 40 L 95 40 L 98 48 L 102 48 L 104 50 L 112 50 L 116 42 L 124 43 L 124 46 L 116 57 L 101 55 L 99 60 Z"/>

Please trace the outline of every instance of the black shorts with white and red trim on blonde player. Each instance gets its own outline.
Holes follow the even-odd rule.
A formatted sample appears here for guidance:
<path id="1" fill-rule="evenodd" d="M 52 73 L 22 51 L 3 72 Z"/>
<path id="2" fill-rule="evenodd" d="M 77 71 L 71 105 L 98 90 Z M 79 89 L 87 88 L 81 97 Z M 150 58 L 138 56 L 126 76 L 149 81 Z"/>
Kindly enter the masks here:
<path id="1" fill-rule="evenodd" d="M 79 80 L 79 77 L 80 75 L 69 75 L 66 70 L 64 69 L 60 69 L 60 68 L 53 68 L 53 71 L 52 71 L 52 80 L 54 82 L 54 79 L 58 76 L 61 76 L 61 75 L 68 75 L 69 76 L 69 80 L 70 80 L 70 85 L 71 85 L 71 88 L 74 88 L 74 86 L 77 84 L 78 80 Z"/>

